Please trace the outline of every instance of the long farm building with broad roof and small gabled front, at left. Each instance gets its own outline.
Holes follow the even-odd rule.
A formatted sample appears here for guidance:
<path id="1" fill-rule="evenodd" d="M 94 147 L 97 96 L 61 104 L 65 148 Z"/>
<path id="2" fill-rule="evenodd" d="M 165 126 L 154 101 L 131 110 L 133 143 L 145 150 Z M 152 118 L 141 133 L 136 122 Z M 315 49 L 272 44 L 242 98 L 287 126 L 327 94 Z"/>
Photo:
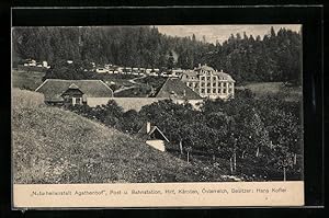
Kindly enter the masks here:
<path id="1" fill-rule="evenodd" d="M 101 80 L 59 80 L 47 79 L 35 90 L 45 95 L 50 105 L 106 104 L 113 91 Z"/>

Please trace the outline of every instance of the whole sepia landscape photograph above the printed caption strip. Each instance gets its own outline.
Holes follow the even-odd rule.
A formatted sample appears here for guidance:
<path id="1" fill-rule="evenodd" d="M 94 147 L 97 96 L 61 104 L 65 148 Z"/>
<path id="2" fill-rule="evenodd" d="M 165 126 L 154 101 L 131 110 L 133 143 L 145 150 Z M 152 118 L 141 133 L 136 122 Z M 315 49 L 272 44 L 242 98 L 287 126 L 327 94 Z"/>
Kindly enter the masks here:
<path id="1" fill-rule="evenodd" d="M 12 27 L 14 184 L 303 181 L 302 25 Z"/>

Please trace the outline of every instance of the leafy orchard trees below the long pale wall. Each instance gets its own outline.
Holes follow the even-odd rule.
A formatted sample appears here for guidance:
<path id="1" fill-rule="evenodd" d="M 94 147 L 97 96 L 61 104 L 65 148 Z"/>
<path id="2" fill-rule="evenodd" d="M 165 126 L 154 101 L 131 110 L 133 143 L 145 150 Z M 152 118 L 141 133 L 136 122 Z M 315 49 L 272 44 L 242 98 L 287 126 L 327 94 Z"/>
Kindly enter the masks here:
<path id="1" fill-rule="evenodd" d="M 264 180 L 300 180 L 303 129 L 300 102 L 277 96 L 256 99 L 241 91 L 234 101 L 204 100 L 200 110 L 186 101 L 171 100 L 124 112 L 115 101 L 94 108 L 69 110 L 127 134 L 137 134 L 150 122 L 170 140 L 170 152 L 208 164 L 227 161 L 231 174 L 257 175 Z"/>

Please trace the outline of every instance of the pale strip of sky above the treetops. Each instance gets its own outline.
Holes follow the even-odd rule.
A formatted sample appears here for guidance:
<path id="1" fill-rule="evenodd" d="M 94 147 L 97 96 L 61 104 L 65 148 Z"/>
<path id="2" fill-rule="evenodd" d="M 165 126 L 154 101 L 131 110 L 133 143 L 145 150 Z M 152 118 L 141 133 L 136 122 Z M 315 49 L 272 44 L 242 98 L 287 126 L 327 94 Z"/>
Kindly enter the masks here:
<path id="1" fill-rule="evenodd" d="M 264 25 L 158 25 L 159 32 L 166 35 L 171 36 L 191 36 L 194 34 L 197 41 L 202 41 L 203 36 L 205 36 L 206 42 L 215 44 L 216 41 L 218 43 L 223 43 L 226 41 L 230 34 L 236 35 L 240 33 L 243 36 L 243 32 L 246 34 L 252 35 L 256 37 L 260 35 L 261 37 L 265 34 L 270 33 L 270 28 L 273 26 L 274 31 L 277 31 L 281 27 L 285 27 L 292 31 L 300 31 L 302 25 L 299 24 L 264 24 Z"/>

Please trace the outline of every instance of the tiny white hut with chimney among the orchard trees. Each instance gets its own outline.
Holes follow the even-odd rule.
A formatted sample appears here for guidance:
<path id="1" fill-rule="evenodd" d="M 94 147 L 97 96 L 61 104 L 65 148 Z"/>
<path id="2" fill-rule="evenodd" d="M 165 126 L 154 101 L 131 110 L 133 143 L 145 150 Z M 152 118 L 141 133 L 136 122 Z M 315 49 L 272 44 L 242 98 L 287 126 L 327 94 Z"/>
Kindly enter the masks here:
<path id="1" fill-rule="evenodd" d="M 164 134 L 157 127 L 152 126 L 149 122 L 146 123 L 138 131 L 140 138 L 145 139 L 146 144 L 158 149 L 166 151 L 166 144 L 169 142 Z"/>

